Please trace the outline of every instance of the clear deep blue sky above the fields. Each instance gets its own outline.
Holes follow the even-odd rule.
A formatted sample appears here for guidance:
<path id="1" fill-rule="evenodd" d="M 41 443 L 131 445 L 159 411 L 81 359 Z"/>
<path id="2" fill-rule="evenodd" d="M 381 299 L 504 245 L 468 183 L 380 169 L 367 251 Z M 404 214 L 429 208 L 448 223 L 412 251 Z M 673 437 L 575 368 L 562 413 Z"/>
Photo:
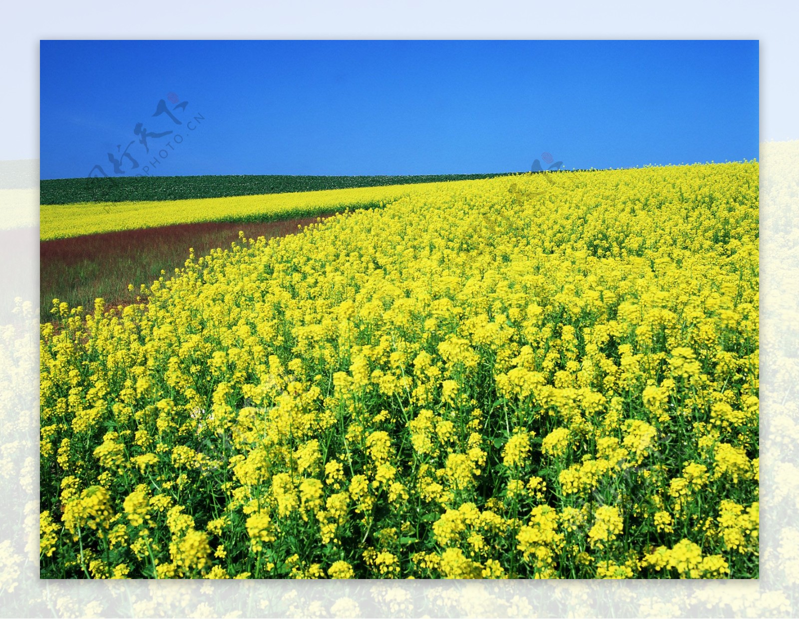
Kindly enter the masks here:
<path id="1" fill-rule="evenodd" d="M 41 176 L 751 160 L 758 81 L 757 41 L 42 41 Z"/>

